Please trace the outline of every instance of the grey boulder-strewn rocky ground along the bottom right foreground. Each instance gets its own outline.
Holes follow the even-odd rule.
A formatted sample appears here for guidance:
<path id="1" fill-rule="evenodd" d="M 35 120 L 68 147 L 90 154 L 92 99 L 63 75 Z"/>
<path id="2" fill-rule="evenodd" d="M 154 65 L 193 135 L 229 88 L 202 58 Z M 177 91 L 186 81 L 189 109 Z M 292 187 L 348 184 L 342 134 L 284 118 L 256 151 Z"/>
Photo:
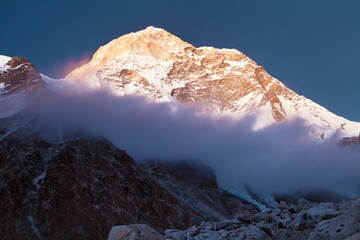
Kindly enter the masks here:
<path id="1" fill-rule="evenodd" d="M 186 230 L 168 229 L 160 234 L 147 225 L 116 226 L 109 240 L 225 240 L 225 239 L 360 239 L 360 198 L 341 203 L 314 203 L 299 199 L 297 204 L 281 201 L 264 213 L 237 214 L 224 221 L 203 221 Z"/>

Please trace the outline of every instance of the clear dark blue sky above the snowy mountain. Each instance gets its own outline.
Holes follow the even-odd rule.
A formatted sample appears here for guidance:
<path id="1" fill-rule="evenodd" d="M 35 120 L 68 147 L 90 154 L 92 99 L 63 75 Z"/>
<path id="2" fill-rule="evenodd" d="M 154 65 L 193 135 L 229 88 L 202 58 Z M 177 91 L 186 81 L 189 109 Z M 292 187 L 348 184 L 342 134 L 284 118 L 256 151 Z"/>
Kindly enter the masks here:
<path id="1" fill-rule="evenodd" d="M 360 121 L 360 1 L 0 0 L 0 54 L 52 77 L 149 25 L 195 46 L 236 48 L 299 94 Z"/>

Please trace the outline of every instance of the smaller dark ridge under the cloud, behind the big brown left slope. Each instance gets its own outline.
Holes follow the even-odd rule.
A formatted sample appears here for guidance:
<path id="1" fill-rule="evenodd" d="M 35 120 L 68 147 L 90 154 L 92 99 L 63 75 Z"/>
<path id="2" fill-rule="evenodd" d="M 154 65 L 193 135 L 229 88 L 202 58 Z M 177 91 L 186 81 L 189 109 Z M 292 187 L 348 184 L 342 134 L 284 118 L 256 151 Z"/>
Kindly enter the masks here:
<path id="1" fill-rule="evenodd" d="M 142 165 L 156 182 L 176 199 L 201 215 L 202 219 L 225 219 L 231 216 L 219 193 L 212 169 L 190 162 L 147 163 Z M 239 204 L 244 205 L 244 204 Z"/>

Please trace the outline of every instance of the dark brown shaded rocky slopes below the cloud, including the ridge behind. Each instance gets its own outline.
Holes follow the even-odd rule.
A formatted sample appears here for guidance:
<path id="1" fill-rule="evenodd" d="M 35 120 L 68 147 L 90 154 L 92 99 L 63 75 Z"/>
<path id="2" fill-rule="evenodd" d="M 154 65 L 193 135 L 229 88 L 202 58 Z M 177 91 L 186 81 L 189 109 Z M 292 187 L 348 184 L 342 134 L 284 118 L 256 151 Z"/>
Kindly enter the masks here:
<path id="1" fill-rule="evenodd" d="M 231 216 L 205 167 L 137 165 L 101 138 L 60 141 L 27 132 L 0 140 L 4 239 L 106 239 L 115 225 L 164 231 Z"/>

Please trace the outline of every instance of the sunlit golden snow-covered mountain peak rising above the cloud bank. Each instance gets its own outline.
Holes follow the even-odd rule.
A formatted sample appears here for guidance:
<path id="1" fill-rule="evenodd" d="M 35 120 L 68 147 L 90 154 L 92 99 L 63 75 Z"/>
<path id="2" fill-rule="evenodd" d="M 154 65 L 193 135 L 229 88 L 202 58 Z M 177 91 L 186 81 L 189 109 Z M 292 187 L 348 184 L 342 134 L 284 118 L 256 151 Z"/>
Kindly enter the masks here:
<path id="1" fill-rule="evenodd" d="M 254 129 L 300 118 L 318 138 L 360 132 L 360 123 L 298 95 L 238 50 L 196 48 L 161 28 L 112 40 L 66 78 L 118 95 L 197 104 L 236 118 L 255 116 Z"/>

